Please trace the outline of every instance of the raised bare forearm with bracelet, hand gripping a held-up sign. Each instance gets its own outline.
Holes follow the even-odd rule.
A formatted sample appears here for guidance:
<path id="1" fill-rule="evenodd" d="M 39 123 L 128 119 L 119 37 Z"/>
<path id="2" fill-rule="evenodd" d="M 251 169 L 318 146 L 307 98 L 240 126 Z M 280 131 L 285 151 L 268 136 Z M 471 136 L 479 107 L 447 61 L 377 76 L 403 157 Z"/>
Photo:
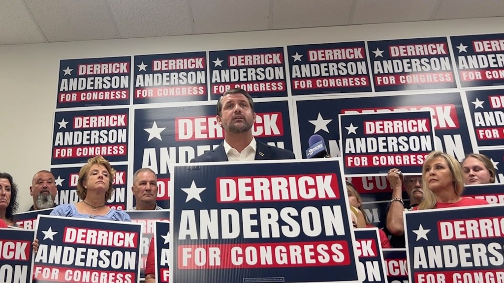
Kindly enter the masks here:
<path id="1" fill-rule="evenodd" d="M 391 199 L 403 199 L 402 192 L 402 176 L 397 173 L 399 169 L 391 169 L 387 175 L 387 180 L 390 182 L 392 187 L 392 198 Z M 387 213 L 387 230 L 392 235 L 402 236 L 404 234 L 404 221 L 403 221 L 403 211 L 404 204 L 399 200 L 394 200 L 390 203 L 389 211 Z"/>

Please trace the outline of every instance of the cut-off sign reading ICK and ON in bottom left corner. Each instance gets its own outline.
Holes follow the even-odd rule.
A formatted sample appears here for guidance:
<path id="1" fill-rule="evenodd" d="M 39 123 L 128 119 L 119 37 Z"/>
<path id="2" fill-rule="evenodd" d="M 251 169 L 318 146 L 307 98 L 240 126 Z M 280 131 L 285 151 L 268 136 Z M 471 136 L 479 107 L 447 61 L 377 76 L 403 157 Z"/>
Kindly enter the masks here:
<path id="1" fill-rule="evenodd" d="M 33 235 L 33 230 L 0 228 L 0 282 L 32 282 Z"/>

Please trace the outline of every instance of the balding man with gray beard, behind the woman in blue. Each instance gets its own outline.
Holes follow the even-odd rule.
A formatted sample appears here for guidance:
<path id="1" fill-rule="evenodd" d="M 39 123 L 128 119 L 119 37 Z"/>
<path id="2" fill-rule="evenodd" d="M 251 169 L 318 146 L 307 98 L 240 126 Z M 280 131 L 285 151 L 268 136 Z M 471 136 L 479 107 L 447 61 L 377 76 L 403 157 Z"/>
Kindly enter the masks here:
<path id="1" fill-rule="evenodd" d="M 38 171 L 32 178 L 30 195 L 33 197 L 33 205 L 28 211 L 56 206 L 54 203 L 56 193 L 57 189 L 54 175 L 47 170 Z"/>

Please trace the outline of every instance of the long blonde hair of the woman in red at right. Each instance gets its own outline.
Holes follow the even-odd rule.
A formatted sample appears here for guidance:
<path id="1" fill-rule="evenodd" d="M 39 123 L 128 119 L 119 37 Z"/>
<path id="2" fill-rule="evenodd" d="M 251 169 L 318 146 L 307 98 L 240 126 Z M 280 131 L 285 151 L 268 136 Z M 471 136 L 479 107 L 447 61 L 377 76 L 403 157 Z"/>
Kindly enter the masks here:
<path id="1" fill-rule="evenodd" d="M 461 196 L 462 193 L 464 192 L 464 179 L 463 179 L 463 172 L 462 172 L 462 167 L 460 166 L 460 163 L 451 155 L 446 154 L 444 152 L 440 151 L 432 151 L 429 153 L 427 158 L 425 158 L 425 161 L 423 162 L 422 166 L 422 180 L 425 180 L 423 182 L 423 200 L 420 202 L 418 205 L 418 210 L 420 209 L 431 209 L 436 206 L 437 203 L 437 197 L 434 194 L 433 191 L 431 191 L 428 187 L 428 182 L 427 180 L 427 171 L 425 170 L 425 164 L 429 163 L 435 158 L 438 157 L 443 157 L 446 162 L 448 163 L 448 167 L 450 168 L 450 171 L 452 172 L 452 177 L 453 177 L 453 188 L 455 190 L 455 194 L 458 196 Z"/>

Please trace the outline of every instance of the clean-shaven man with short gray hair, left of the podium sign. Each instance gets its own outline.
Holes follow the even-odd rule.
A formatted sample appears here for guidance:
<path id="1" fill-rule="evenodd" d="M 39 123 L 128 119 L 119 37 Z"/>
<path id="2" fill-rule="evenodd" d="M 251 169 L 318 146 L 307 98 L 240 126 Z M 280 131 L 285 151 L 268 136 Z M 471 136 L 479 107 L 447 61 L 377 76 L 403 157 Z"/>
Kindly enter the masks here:
<path id="1" fill-rule="evenodd" d="M 131 210 L 163 210 L 156 203 L 158 185 L 156 173 L 150 168 L 141 168 L 133 175 L 131 188 L 137 205 Z"/>

